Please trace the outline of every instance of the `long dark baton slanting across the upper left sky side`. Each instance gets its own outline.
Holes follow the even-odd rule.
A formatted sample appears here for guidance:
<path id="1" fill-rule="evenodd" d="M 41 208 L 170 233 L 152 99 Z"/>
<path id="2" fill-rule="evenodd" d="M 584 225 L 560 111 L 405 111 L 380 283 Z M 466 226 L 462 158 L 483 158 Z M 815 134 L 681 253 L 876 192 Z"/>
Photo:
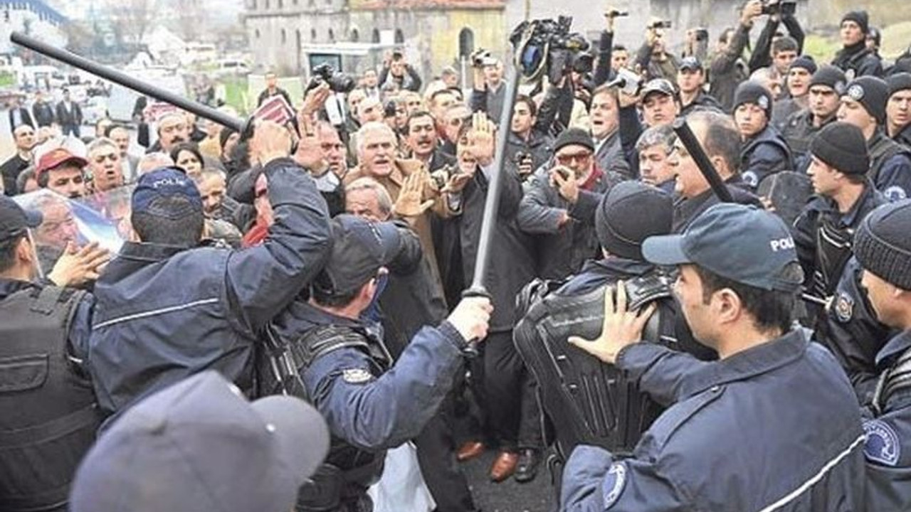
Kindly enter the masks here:
<path id="1" fill-rule="evenodd" d="M 13 32 L 9 36 L 9 39 L 16 45 L 25 46 L 26 48 L 34 50 L 41 55 L 49 56 L 72 67 L 78 67 L 79 69 L 87 71 L 92 75 L 102 77 L 107 81 L 114 82 L 115 84 L 127 87 L 129 89 L 133 89 L 148 97 L 158 99 L 159 101 L 170 103 L 171 105 L 196 114 L 200 118 L 210 119 L 222 126 L 231 128 L 238 133 L 249 133 L 249 122 L 244 119 L 235 118 L 233 116 L 225 114 L 224 112 L 220 112 L 215 108 L 211 108 L 208 105 L 203 105 L 199 102 L 187 99 L 186 97 L 179 96 L 178 94 L 175 94 L 169 90 L 165 90 L 161 87 L 153 86 L 151 84 L 143 82 L 142 80 L 138 80 L 136 77 L 130 77 L 128 74 L 123 73 L 122 71 L 118 71 L 117 69 L 102 66 L 97 62 L 91 61 L 83 56 L 77 56 L 76 54 L 62 48 L 50 46 L 46 43 L 38 41 L 34 37 L 26 36 L 21 32 Z"/>

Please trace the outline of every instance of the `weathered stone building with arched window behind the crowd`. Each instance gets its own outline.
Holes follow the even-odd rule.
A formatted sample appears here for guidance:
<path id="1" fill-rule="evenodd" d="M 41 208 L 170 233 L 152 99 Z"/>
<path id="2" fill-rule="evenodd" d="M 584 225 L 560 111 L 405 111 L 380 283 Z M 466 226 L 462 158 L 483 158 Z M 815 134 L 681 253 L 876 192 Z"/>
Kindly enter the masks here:
<path id="1" fill-rule="evenodd" d="M 476 47 L 502 54 L 505 10 L 505 0 L 247 0 L 244 20 L 261 69 L 302 73 L 308 56 L 340 53 L 346 71 L 362 71 L 397 47 L 433 77 Z"/>

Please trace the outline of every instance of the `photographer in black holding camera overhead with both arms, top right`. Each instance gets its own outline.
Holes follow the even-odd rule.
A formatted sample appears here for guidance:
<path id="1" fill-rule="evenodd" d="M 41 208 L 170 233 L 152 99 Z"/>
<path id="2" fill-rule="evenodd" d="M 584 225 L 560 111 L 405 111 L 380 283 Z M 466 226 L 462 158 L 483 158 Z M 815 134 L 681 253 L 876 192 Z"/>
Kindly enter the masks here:
<path id="1" fill-rule="evenodd" d="M 760 67 L 774 66 L 779 76 L 786 77 L 793 59 L 804 53 L 804 29 L 794 17 L 793 5 L 793 2 L 773 0 L 764 7 L 769 19 L 752 50 L 751 73 Z M 787 27 L 790 37 L 779 35 L 778 27 L 782 23 Z"/>

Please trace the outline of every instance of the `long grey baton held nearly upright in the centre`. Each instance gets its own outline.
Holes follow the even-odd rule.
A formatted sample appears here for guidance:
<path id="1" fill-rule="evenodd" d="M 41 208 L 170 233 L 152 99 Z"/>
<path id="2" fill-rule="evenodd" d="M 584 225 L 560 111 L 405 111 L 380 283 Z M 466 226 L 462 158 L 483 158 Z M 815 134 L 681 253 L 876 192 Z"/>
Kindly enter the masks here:
<path id="1" fill-rule="evenodd" d="M 496 154 L 494 155 L 494 171 L 487 187 L 487 197 L 484 202 L 484 217 L 481 218 L 481 236 L 477 244 L 475 257 L 475 275 L 472 277 L 471 286 L 462 292 L 463 297 L 490 297 L 484 285 L 487 275 L 487 265 L 490 262 L 490 244 L 494 240 L 496 217 L 500 209 L 500 189 L 503 188 L 503 174 L 506 172 L 506 150 L 509 132 L 512 127 L 513 104 L 516 103 L 518 91 L 519 70 L 516 64 L 511 68 L 509 79 L 506 83 L 506 97 L 503 101 L 503 112 L 500 114 L 500 125 L 496 132 Z M 500 307 L 509 307 L 509 304 L 500 304 Z M 477 340 L 468 343 L 468 355 L 476 355 Z"/>

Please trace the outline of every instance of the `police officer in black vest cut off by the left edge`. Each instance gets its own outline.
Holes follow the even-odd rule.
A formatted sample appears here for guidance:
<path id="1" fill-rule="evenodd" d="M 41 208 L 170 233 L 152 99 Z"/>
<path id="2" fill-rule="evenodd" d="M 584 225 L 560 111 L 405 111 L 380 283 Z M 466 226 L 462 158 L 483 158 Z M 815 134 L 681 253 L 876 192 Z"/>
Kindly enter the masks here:
<path id="1" fill-rule="evenodd" d="M 101 423 L 82 367 L 93 301 L 64 287 L 97 278 L 107 251 L 67 251 L 39 282 L 29 230 L 41 221 L 0 195 L 0 508 L 10 512 L 66 510 Z"/>

